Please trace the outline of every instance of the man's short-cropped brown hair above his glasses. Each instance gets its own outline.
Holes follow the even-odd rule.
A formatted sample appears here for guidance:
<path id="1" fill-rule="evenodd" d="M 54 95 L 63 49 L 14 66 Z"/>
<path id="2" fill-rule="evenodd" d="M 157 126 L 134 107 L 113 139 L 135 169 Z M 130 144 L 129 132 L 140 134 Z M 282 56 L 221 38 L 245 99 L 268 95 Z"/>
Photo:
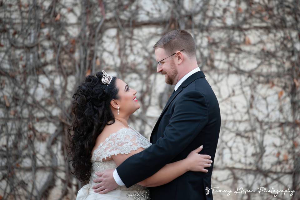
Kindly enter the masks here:
<path id="1" fill-rule="evenodd" d="M 195 41 L 192 35 L 185 30 L 173 30 L 167 32 L 156 42 L 153 48 L 163 48 L 166 53 L 170 55 L 184 49 L 184 52 L 189 57 L 196 57 Z"/>

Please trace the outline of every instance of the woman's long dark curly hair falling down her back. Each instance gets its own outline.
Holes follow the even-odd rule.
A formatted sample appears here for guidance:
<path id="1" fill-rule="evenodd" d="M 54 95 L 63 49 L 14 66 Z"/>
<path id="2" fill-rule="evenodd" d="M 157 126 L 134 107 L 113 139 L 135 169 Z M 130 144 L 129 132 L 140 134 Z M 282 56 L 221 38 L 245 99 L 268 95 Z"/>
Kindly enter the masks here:
<path id="1" fill-rule="evenodd" d="M 72 97 L 72 113 L 75 118 L 68 128 L 68 156 L 71 157 L 68 161 L 72 162 L 72 173 L 81 182 L 90 180 L 92 149 L 97 137 L 105 125 L 115 122 L 110 102 L 119 99 L 116 77 L 108 85 L 102 83 L 102 75 L 102 72 L 97 72 L 96 75 L 87 76 Z"/>

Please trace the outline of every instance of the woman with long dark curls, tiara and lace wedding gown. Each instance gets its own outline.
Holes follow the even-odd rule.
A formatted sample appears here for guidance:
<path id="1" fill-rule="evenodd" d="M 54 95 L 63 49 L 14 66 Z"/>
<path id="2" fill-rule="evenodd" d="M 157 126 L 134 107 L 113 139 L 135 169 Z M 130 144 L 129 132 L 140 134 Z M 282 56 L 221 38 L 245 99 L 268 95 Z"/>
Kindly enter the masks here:
<path id="1" fill-rule="evenodd" d="M 198 154 L 201 146 L 187 158 L 165 165 L 132 187 L 120 186 L 106 194 L 100 194 L 101 187 L 94 191 L 92 187 L 99 184 L 93 182 L 98 178 L 97 173 L 116 168 L 133 154 L 151 145 L 128 124 L 130 115 L 140 108 L 136 94 L 121 79 L 103 70 L 87 76 L 78 86 L 73 95 L 72 113 L 75 118 L 69 147 L 73 174 L 88 184 L 78 191 L 77 200 L 148 200 L 147 187 L 169 183 L 187 171 L 207 172 L 204 168 L 211 166 L 209 155 Z"/>

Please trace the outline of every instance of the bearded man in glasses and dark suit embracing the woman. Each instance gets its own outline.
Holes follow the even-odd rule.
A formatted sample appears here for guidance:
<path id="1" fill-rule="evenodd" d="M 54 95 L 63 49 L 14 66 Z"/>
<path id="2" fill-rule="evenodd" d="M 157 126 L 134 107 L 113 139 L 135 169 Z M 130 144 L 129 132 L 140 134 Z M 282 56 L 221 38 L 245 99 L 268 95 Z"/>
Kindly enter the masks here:
<path id="1" fill-rule="evenodd" d="M 167 84 L 175 85 L 158 118 L 149 148 L 125 160 L 117 169 L 98 174 L 106 193 L 119 185 L 130 187 L 156 173 L 164 165 L 184 159 L 203 145 L 201 154 L 214 161 L 219 132 L 220 109 L 205 75 L 197 65 L 196 45 L 191 34 L 173 30 L 154 45 L 157 72 Z M 162 186 L 149 187 L 153 200 L 212 199 L 212 166 L 208 172 L 188 171 Z M 93 189 L 98 188 L 96 185 Z"/>

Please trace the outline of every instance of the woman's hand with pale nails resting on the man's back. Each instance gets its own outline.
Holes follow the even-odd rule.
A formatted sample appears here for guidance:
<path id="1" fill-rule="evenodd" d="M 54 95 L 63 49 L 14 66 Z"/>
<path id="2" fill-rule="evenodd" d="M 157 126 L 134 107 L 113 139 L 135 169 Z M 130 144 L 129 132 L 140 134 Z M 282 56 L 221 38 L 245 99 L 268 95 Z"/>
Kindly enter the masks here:
<path id="1" fill-rule="evenodd" d="M 208 170 L 204 168 L 212 166 L 212 160 L 210 160 L 211 157 L 209 155 L 198 154 L 202 148 L 203 146 L 201 145 L 201 147 L 188 154 L 186 158 L 188 171 L 207 173 Z"/>

